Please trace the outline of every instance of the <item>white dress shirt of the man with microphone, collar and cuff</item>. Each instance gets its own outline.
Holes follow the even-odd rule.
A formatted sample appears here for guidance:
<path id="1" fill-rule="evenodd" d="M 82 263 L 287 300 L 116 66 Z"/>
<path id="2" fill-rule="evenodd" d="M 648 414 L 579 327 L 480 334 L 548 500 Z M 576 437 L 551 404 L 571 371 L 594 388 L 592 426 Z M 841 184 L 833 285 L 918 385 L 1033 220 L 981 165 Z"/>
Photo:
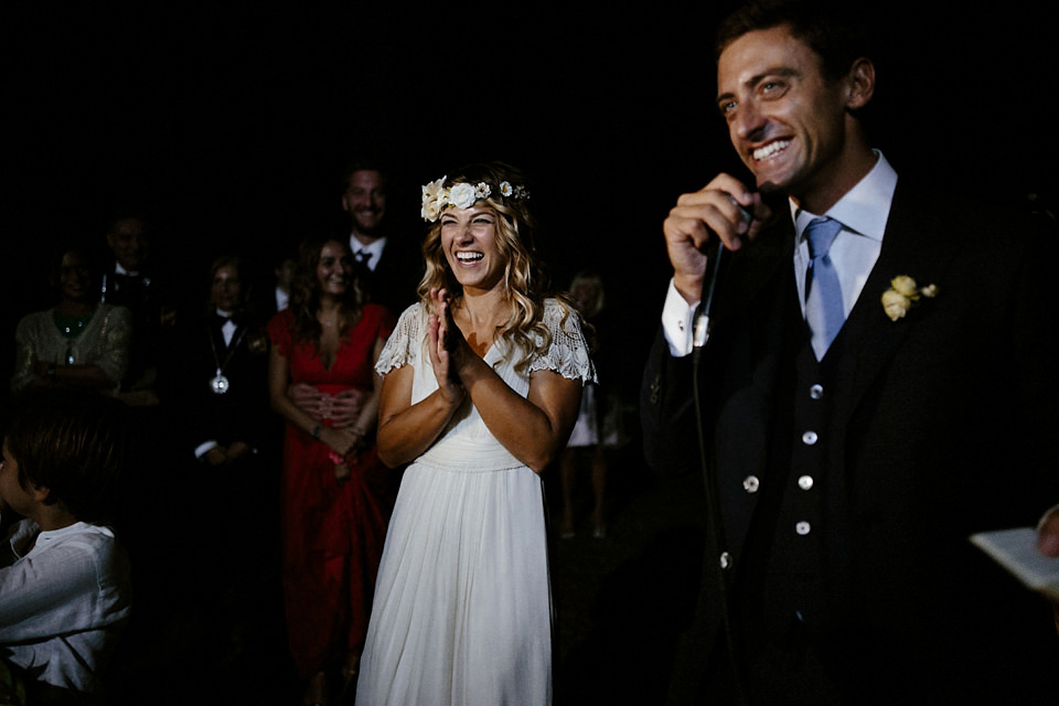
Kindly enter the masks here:
<path id="1" fill-rule="evenodd" d="M 810 221 L 825 215 L 842 223 L 842 231 L 832 243 L 828 254 L 838 272 L 838 285 L 842 287 L 843 309 L 846 317 L 857 302 L 860 290 L 864 289 L 864 284 L 879 257 L 879 252 L 882 249 L 882 233 L 886 231 L 890 203 L 894 201 L 894 191 L 897 188 L 897 172 L 880 152 L 876 151 L 876 154 L 878 160 L 871 171 L 846 192 L 827 213 L 813 214 L 799 208 L 793 201 L 790 202 L 796 234 L 794 278 L 802 315 L 805 315 L 805 270 L 809 267 L 809 243 L 804 234 Z M 697 306 L 698 302 L 688 304 L 676 291 L 673 280 L 670 280 L 670 290 L 662 309 L 662 330 L 670 344 L 670 353 L 674 356 L 687 355 L 692 352 L 692 318 Z M 816 339 L 816 334 L 813 338 Z M 817 347 L 815 340 L 813 347 Z"/>

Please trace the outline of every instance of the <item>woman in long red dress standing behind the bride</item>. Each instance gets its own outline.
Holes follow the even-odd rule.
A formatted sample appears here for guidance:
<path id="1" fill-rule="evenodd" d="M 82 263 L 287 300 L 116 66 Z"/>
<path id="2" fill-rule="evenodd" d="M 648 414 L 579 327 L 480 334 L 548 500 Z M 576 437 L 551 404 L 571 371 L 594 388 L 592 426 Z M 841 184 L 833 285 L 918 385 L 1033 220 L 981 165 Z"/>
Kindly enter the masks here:
<path id="1" fill-rule="evenodd" d="M 374 367 L 393 327 L 386 309 L 361 303 L 346 244 L 302 244 L 290 307 L 268 324 L 268 385 L 287 420 L 284 596 L 306 704 L 349 686 L 364 646 L 389 516 Z"/>

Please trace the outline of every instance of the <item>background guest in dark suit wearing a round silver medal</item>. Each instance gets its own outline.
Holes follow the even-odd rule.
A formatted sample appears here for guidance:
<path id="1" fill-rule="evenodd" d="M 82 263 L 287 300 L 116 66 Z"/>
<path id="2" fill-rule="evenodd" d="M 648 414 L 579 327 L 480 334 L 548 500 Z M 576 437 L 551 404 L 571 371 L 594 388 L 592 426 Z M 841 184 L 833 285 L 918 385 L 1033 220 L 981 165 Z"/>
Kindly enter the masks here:
<path id="1" fill-rule="evenodd" d="M 210 644 L 240 673 L 257 674 L 257 650 L 281 630 L 279 584 L 279 438 L 268 408 L 268 342 L 264 320 L 248 304 L 250 278 L 235 255 L 208 268 L 208 302 L 201 314 L 182 317 L 180 416 L 184 478 L 211 492 L 201 512 L 224 522 L 192 523 L 183 533 L 188 557 L 213 580 L 192 581 L 200 596 Z M 196 541 L 189 542 L 189 536 Z M 248 541 L 249 538 L 249 541 Z M 275 617 L 275 620 L 272 619 Z M 281 649 L 281 645 L 280 645 Z M 226 687 L 235 688 L 234 675 Z"/>

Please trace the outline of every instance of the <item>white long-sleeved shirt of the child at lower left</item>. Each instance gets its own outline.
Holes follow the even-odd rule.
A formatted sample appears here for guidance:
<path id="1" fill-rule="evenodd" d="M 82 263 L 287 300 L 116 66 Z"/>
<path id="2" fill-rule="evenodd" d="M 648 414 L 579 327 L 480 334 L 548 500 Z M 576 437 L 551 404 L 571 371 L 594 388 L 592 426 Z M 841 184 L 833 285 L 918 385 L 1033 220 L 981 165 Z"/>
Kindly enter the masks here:
<path id="1" fill-rule="evenodd" d="M 18 666 L 40 670 L 42 682 L 94 691 L 129 617 L 128 557 L 110 530 L 84 522 L 41 532 L 22 520 L 8 545 L 14 561 L 0 566 L 0 648 Z"/>

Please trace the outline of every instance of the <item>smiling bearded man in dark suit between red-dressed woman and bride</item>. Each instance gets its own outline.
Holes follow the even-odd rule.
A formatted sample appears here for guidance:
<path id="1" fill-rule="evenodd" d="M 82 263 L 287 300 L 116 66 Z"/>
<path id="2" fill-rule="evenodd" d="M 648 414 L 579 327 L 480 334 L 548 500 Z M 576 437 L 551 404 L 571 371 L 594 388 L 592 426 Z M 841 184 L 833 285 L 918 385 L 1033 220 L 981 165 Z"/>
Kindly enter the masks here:
<path id="1" fill-rule="evenodd" d="M 418 299 L 424 260 L 418 237 L 389 227 L 388 185 L 386 173 L 375 162 L 352 162 L 343 176 L 342 210 L 350 216 L 350 250 L 356 260 L 359 286 L 368 301 L 400 315 Z"/>

